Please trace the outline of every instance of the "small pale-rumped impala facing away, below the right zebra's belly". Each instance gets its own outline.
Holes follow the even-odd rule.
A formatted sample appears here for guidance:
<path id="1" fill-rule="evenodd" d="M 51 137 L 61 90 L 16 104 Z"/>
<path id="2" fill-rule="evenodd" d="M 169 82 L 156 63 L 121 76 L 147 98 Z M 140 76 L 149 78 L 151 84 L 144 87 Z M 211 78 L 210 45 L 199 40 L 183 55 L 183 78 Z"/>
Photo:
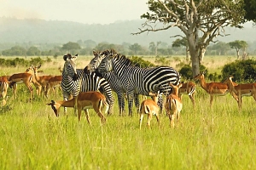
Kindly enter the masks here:
<path id="1" fill-rule="evenodd" d="M 159 106 L 157 105 L 159 93 L 158 94 L 149 93 L 149 95 L 152 97 L 152 99 L 143 100 L 140 108 L 140 129 L 142 128 L 144 114 L 148 114 L 148 122 L 147 122 L 148 127 L 150 127 L 152 116 L 155 116 L 158 124 L 160 124 Z"/>

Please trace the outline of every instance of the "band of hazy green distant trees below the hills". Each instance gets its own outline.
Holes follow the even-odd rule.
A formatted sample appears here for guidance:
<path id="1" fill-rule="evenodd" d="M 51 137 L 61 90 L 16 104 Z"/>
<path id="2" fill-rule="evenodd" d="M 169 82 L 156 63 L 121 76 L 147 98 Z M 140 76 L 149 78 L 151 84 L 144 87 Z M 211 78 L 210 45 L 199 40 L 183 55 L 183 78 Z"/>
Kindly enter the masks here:
<path id="1" fill-rule="evenodd" d="M 113 48 L 120 54 L 125 55 L 186 55 L 186 47 L 172 47 L 166 42 L 150 42 L 148 48 L 138 43 L 113 44 L 108 42 L 96 43 L 92 40 L 67 42 L 50 49 L 44 49 L 41 45 L 15 45 L 9 49 L 0 51 L 3 56 L 61 56 L 63 54 L 91 55 L 93 50 L 103 51 Z M 256 42 L 247 42 L 248 56 L 256 54 Z M 241 52 L 242 53 L 242 50 Z M 207 48 L 206 55 L 236 55 L 236 49 L 231 48 L 229 43 L 216 42 Z"/>

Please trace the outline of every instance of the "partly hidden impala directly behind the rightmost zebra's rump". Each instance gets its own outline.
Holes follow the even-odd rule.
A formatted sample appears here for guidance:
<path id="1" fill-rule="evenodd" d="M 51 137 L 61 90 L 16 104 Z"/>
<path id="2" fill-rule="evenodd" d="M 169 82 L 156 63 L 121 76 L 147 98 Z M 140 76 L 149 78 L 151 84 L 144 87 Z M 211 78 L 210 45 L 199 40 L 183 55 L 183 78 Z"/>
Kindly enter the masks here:
<path id="1" fill-rule="evenodd" d="M 195 107 L 195 83 L 194 82 L 183 83 L 183 86 L 178 90 L 178 97 L 182 99 L 183 94 L 189 95 L 189 99 L 192 101 L 192 104 Z"/>

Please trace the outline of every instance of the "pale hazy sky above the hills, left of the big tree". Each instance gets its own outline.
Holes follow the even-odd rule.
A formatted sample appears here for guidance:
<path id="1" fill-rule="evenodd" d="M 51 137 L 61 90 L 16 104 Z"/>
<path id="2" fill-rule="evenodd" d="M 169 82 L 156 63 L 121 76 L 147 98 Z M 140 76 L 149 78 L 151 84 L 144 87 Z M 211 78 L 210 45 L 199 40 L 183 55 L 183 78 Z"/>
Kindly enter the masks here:
<path id="1" fill-rule="evenodd" d="M 109 24 L 139 20 L 148 0 L 0 0 L 0 17 Z"/>

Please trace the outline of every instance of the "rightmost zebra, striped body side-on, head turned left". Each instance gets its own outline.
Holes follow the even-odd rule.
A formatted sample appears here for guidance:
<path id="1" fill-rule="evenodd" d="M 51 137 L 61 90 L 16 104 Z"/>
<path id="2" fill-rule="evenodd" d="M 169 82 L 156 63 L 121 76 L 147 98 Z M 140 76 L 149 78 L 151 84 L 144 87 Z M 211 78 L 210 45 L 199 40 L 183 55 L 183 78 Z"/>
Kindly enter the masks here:
<path id="1" fill-rule="evenodd" d="M 125 55 L 111 51 L 105 51 L 102 54 L 107 55 L 96 72 L 111 72 L 118 77 L 121 85 L 125 87 L 128 95 L 129 115 L 132 116 L 132 103 L 134 94 L 149 95 L 149 92 L 156 94 L 160 91 L 158 105 L 162 111 L 162 94 L 170 94 L 172 87 L 170 83 L 177 85 L 180 82 L 179 73 L 172 67 L 158 66 L 151 68 L 139 68 L 132 65 L 131 60 Z"/>

